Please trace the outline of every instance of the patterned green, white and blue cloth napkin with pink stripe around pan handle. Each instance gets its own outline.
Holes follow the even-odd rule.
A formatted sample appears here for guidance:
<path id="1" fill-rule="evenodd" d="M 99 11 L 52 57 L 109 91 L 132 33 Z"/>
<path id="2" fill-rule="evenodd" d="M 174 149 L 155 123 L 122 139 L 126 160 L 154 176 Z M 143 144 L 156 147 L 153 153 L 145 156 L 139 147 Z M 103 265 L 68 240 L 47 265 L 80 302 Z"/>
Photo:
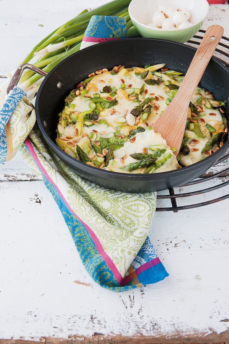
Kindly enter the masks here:
<path id="1" fill-rule="evenodd" d="M 118 20 L 123 23 L 122 19 Z M 92 17 L 87 32 L 96 31 L 98 37 L 104 20 L 119 22 L 116 17 L 102 17 L 90 30 Z M 110 36 L 116 38 L 113 27 Z M 117 35 L 122 36 L 119 31 Z M 0 109 L 0 162 L 11 159 L 20 147 L 23 160 L 42 177 L 61 210 L 89 275 L 118 292 L 168 276 L 148 237 L 156 194 L 108 190 L 81 179 L 47 146 L 34 123 L 33 105 L 15 86 Z"/>

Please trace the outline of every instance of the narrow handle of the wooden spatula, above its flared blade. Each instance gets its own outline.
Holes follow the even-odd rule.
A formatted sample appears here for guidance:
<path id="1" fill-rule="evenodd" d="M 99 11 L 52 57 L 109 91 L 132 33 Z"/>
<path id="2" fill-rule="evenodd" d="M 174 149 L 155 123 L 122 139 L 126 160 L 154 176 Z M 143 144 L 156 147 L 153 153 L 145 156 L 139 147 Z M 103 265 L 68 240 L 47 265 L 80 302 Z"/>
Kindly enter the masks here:
<path id="1" fill-rule="evenodd" d="M 185 98 L 187 97 L 190 99 L 192 97 L 222 35 L 222 26 L 209 26 L 177 93 L 181 95 L 182 92 L 185 92 Z"/>

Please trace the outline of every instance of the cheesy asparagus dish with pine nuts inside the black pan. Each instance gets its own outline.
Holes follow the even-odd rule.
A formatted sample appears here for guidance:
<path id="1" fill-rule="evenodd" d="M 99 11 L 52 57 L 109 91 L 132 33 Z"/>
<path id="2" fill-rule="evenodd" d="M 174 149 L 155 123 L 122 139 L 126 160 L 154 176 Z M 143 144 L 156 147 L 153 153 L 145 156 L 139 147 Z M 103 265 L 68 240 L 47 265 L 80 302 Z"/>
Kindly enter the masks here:
<path id="1" fill-rule="evenodd" d="M 122 173 L 170 171 L 207 157 L 222 146 L 228 130 L 225 104 L 209 91 L 197 87 L 192 96 L 177 158 L 152 128 L 182 79 L 164 64 L 91 73 L 65 99 L 58 147 L 91 166 Z"/>

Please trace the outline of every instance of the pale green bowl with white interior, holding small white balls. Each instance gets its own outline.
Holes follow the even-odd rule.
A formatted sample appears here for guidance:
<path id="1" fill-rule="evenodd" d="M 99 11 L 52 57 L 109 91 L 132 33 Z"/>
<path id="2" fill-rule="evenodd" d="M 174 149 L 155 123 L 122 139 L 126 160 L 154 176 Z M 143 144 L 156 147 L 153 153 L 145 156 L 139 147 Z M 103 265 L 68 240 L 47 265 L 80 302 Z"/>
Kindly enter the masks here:
<path id="1" fill-rule="evenodd" d="M 176 8 L 186 7 L 191 13 L 189 22 L 193 25 L 186 29 L 163 30 L 151 28 L 153 12 L 158 5 L 168 4 Z M 130 18 L 142 37 L 161 38 L 185 43 L 199 31 L 209 11 L 207 0 L 132 0 L 129 4 Z"/>

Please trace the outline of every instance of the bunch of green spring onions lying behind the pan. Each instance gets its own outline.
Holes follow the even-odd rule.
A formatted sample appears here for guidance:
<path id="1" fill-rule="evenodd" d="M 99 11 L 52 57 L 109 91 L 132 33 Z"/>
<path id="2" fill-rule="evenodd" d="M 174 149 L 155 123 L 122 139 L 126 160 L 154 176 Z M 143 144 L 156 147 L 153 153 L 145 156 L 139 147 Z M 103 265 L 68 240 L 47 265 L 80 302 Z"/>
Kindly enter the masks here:
<path id="1" fill-rule="evenodd" d="M 138 35 L 138 31 L 134 28 L 128 12 L 130 1 L 131 0 L 114 0 L 94 10 L 84 10 L 73 19 L 59 26 L 59 28 L 51 32 L 38 43 L 20 65 L 23 63 L 32 63 L 36 67 L 43 69 L 43 71 L 47 73 L 50 72 L 59 62 L 64 60 L 64 58 L 79 51 L 84 32 L 92 15 L 123 16 L 127 20 L 128 37 Z M 35 62 L 33 62 L 34 56 L 39 57 Z M 13 73 L 14 71 L 11 74 Z M 9 79 L 1 85 L 0 95 L 5 94 L 11 77 L 12 75 L 9 75 Z M 42 80 L 43 78 L 40 75 L 32 71 L 26 71 L 20 79 L 19 86 L 25 90 L 30 99 L 32 99 Z"/>

